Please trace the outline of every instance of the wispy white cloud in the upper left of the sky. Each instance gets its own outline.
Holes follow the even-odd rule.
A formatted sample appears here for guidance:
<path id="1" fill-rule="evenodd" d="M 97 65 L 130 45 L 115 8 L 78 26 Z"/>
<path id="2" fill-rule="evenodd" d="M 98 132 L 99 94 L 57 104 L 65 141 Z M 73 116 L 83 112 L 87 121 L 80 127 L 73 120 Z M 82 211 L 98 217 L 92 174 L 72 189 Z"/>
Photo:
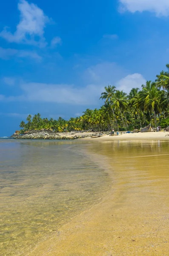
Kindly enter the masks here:
<path id="1" fill-rule="evenodd" d="M 16 31 L 12 34 L 7 28 L 4 28 L 0 36 L 9 42 L 46 46 L 44 28 L 49 22 L 49 18 L 43 13 L 43 10 L 33 3 L 29 4 L 26 0 L 20 0 L 18 9 L 20 22 L 17 24 Z"/>

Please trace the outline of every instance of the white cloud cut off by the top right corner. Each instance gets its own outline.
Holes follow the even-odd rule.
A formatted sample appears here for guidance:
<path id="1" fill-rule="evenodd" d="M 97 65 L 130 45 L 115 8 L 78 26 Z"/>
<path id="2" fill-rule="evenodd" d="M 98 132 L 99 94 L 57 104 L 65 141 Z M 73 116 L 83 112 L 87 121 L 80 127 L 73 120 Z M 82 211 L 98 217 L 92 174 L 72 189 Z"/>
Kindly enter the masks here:
<path id="1" fill-rule="evenodd" d="M 169 15 L 169 0 L 119 0 L 120 12 L 155 12 L 156 16 Z"/>

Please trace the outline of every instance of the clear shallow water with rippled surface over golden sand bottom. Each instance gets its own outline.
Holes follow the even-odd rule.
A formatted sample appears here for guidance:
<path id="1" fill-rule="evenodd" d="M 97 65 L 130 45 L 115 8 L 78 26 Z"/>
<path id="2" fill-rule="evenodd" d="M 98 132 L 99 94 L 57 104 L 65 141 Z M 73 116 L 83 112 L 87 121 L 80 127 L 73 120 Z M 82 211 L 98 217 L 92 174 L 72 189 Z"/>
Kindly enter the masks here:
<path id="1" fill-rule="evenodd" d="M 0 140 L 0 255 L 21 255 L 106 192 L 88 143 Z M 83 153 L 82 153 L 83 152 Z"/>

